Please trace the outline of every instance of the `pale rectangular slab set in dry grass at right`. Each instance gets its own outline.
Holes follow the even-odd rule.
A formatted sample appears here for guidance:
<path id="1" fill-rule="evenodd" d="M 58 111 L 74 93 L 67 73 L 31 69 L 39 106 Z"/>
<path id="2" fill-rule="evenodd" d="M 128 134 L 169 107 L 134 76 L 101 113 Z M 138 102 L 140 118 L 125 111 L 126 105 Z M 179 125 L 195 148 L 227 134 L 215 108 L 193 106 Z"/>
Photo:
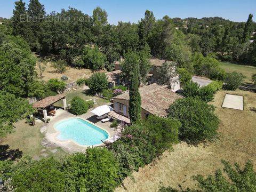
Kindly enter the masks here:
<path id="1" fill-rule="evenodd" d="M 241 95 L 226 94 L 222 107 L 244 110 L 244 98 Z"/>

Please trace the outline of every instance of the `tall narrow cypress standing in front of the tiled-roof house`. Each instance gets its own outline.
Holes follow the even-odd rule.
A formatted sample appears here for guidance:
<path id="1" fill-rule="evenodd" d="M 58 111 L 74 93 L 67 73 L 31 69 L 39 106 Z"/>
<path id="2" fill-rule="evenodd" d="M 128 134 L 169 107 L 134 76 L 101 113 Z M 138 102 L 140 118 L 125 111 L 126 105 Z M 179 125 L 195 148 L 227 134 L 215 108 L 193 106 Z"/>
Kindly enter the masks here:
<path id="1" fill-rule="evenodd" d="M 139 65 L 138 63 L 134 62 L 129 92 L 129 115 L 132 124 L 141 120 L 141 97 L 139 93 L 139 77 Z"/>

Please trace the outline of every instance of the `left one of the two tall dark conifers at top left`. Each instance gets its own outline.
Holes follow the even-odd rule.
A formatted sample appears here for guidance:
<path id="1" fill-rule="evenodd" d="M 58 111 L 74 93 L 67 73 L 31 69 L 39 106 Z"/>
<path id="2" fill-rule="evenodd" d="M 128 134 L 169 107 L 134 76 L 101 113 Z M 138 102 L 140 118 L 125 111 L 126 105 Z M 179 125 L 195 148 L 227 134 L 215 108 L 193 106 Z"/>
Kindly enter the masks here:
<path id="1" fill-rule="evenodd" d="M 13 35 L 20 35 L 26 37 L 27 29 L 27 12 L 25 2 L 19 0 L 15 2 L 15 9 L 13 10 Z"/>

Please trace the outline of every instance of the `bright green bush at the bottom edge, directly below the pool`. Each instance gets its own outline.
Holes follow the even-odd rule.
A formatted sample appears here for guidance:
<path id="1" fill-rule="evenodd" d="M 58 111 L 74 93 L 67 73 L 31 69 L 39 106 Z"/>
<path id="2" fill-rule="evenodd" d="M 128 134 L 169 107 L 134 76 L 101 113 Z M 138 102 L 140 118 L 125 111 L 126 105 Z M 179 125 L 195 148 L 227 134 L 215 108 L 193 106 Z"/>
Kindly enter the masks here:
<path id="1" fill-rule="evenodd" d="M 119 165 L 106 148 L 89 148 L 86 154 L 70 155 L 63 163 L 67 191 L 113 191 Z"/>

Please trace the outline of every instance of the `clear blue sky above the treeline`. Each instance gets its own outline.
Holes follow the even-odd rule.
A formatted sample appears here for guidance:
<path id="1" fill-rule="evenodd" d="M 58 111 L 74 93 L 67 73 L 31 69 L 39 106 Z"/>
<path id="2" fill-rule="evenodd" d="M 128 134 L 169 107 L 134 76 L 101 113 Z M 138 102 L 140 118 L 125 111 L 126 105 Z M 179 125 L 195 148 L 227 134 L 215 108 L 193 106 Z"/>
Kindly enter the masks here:
<path id="1" fill-rule="evenodd" d="M 28 4 L 29 0 L 23 0 Z M 0 17 L 10 18 L 15 0 L 0 1 Z M 75 7 L 83 13 L 92 15 L 93 9 L 100 6 L 108 14 L 108 22 L 138 22 L 145 10 L 153 11 L 156 19 L 164 15 L 181 19 L 188 17 L 222 17 L 231 21 L 246 21 L 249 13 L 255 15 L 256 0 L 39 0 L 47 13 Z"/>

